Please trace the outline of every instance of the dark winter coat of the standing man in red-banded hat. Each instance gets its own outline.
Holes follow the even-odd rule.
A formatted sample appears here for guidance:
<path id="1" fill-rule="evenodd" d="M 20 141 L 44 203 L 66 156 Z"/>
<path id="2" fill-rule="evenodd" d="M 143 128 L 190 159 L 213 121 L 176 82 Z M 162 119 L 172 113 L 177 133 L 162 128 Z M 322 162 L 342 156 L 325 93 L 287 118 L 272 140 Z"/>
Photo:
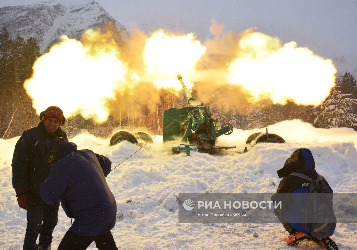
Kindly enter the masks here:
<path id="1" fill-rule="evenodd" d="M 43 122 L 37 127 L 26 130 L 17 141 L 12 157 L 12 187 L 19 189 L 29 187 L 29 203 L 36 206 L 48 206 L 40 195 L 40 183 L 50 174 L 50 167 L 42 157 L 42 149 L 46 141 L 56 137 L 68 141 L 66 132 L 58 127 L 49 133 Z"/>

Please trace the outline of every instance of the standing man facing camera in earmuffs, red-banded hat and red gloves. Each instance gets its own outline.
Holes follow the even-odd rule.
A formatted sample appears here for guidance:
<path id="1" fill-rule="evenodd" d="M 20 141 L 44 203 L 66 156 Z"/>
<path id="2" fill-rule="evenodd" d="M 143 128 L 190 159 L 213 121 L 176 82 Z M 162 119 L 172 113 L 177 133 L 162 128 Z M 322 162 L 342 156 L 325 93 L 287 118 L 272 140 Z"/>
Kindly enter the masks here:
<path id="1" fill-rule="evenodd" d="M 45 141 L 58 136 L 67 139 L 60 126 L 65 122 L 59 107 L 50 106 L 40 114 L 37 127 L 26 130 L 17 141 L 12 157 L 12 187 L 19 206 L 27 210 L 27 228 L 23 249 L 51 249 L 52 232 L 57 225 L 59 202 L 47 204 L 40 195 L 40 183 L 50 174 L 50 168 L 42 157 Z"/>

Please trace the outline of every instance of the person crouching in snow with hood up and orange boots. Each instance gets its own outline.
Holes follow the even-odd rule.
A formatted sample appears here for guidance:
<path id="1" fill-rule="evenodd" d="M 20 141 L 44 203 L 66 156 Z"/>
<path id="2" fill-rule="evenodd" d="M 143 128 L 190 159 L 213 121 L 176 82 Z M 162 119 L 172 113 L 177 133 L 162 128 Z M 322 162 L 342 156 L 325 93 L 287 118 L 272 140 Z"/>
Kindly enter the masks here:
<path id="1" fill-rule="evenodd" d="M 308 194 L 310 184 L 309 181 L 303 179 L 302 177 L 291 175 L 293 172 L 301 173 L 310 177 L 312 180 L 317 180 L 318 174 L 315 170 L 315 161 L 309 149 L 295 150 L 286 160 L 283 168 L 277 171 L 278 176 L 283 179 L 280 181 L 275 194 Z M 332 193 L 332 189 L 324 177 L 322 177 L 322 181 L 325 182 L 326 186 Z M 282 199 L 281 197 L 282 196 L 273 195 L 272 200 L 279 201 L 279 199 Z M 287 199 L 292 199 L 290 196 L 287 197 L 289 197 Z M 296 202 L 300 203 L 296 204 Z M 302 221 L 303 214 L 300 207 L 304 207 L 303 203 L 306 204 L 306 201 L 291 200 L 291 202 L 287 203 L 288 206 L 283 206 L 282 210 L 275 209 L 274 212 L 282 222 L 286 231 L 290 234 L 290 236 L 285 240 L 288 245 L 293 246 L 298 244 L 300 241 L 313 240 L 320 243 L 328 250 L 338 249 L 336 243 L 330 237 L 322 239 L 315 238 L 305 229 L 302 223 L 296 223 L 296 221 Z M 290 221 L 295 223 L 290 223 Z"/>

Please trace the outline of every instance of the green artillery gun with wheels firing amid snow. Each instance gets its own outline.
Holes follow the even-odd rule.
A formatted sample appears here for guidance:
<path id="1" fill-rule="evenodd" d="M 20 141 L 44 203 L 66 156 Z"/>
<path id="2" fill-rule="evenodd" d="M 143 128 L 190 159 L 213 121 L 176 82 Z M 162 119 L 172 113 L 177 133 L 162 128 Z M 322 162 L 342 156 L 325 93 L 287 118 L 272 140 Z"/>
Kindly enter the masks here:
<path id="1" fill-rule="evenodd" d="M 202 101 L 200 104 L 195 102 L 195 97 L 191 95 L 183 83 L 181 75 L 178 75 L 177 79 L 181 82 L 187 103 L 181 109 L 172 107 L 164 111 L 164 144 L 170 147 L 172 151 L 185 151 L 186 155 L 190 155 L 192 150 L 215 153 L 221 149 L 236 148 L 236 146 L 216 146 L 219 136 L 232 134 L 232 124 L 224 123 L 219 127 L 218 119 L 213 118 L 210 109 Z M 152 143 L 152 138 L 144 132 L 132 134 L 129 131 L 119 131 L 111 137 L 110 145 L 122 141 L 142 145 Z M 276 134 L 268 134 L 268 131 L 266 131 L 266 133 L 259 132 L 250 135 L 246 144 L 254 146 L 260 142 L 283 143 L 285 140 Z M 244 152 L 246 151 L 247 147 L 245 147 Z"/>

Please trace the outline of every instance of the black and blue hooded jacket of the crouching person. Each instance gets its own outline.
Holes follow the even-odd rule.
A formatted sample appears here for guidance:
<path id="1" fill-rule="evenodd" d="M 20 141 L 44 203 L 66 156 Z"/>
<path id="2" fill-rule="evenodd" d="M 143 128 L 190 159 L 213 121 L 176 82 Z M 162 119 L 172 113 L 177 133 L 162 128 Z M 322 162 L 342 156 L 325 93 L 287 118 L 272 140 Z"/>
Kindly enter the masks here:
<path id="1" fill-rule="evenodd" d="M 278 176 L 283 177 L 280 181 L 278 189 L 275 194 L 307 194 L 309 187 L 309 181 L 295 175 L 289 175 L 292 172 L 299 172 L 301 174 L 307 175 L 313 180 L 317 180 L 317 172 L 315 170 L 315 161 L 308 149 L 297 149 L 292 155 L 286 160 L 282 169 L 278 170 Z M 322 181 L 326 183 L 327 187 L 332 189 L 328 185 L 324 177 Z M 294 196 L 295 197 L 295 196 Z M 292 199 L 292 197 L 290 197 Z M 276 196 L 272 196 L 272 200 L 280 201 Z M 281 210 L 274 210 L 276 216 L 280 221 L 287 221 L 293 228 L 302 233 L 310 234 L 306 231 L 302 223 L 290 223 L 290 221 L 302 221 L 302 211 L 300 207 L 306 206 L 306 200 L 291 200 L 286 202 L 288 206 L 284 205 L 283 202 L 283 212 Z M 297 205 L 298 206 L 297 206 Z"/>

